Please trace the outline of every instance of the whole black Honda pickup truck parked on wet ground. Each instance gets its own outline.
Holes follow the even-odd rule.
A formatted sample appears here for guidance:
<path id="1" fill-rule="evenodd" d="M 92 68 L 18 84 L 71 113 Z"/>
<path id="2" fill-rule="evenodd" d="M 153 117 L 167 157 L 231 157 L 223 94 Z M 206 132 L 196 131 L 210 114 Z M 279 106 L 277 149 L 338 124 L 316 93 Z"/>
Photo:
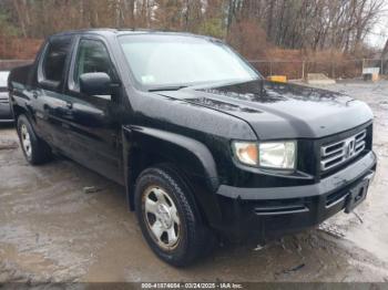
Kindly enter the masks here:
<path id="1" fill-rule="evenodd" d="M 25 158 L 62 154 L 123 185 L 175 266 L 218 237 L 263 241 L 349 213 L 376 169 L 365 103 L 268 82 L 213 38 L 60 33 L 8 85 Z"/>

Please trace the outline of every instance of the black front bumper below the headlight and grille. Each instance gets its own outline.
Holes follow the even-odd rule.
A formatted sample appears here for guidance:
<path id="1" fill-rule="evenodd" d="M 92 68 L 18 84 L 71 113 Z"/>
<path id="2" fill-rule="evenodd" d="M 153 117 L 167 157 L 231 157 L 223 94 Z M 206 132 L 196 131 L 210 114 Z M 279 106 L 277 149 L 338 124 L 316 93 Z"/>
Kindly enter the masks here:
<path id="1" fill-rule="evenodd" d="M 370 152 L 317 184 L 292 187 L 217 190 L 222 222 L 217 229 L 233 239 L 274 238 L 314 227 L 344 210 L 350 189 L 370 178 L 376 155 Z"/>

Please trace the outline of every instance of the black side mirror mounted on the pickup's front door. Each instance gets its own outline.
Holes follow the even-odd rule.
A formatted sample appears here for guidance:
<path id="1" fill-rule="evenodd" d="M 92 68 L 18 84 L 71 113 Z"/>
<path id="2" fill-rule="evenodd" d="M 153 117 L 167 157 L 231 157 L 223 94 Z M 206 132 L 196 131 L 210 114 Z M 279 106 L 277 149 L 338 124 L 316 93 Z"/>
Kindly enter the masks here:
<path id="1" fill-rule="evenodd" d="M 103 72 L 80 75 L 80 92 L 86 95 L 112 95 L 112 80 Z"/>

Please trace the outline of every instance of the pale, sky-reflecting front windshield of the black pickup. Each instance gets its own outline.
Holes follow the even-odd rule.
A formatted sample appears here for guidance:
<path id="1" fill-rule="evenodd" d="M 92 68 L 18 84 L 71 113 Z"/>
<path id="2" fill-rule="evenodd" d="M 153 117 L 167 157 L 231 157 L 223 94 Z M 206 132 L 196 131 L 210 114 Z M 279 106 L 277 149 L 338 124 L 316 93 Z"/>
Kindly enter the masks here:
<path id="1" fill-rule="evenodd" d="M 136 81 L 145 87 L 187 86 L 258 79 L 225 44 L 186 35 L 122 35 L 120 43 Z"/>

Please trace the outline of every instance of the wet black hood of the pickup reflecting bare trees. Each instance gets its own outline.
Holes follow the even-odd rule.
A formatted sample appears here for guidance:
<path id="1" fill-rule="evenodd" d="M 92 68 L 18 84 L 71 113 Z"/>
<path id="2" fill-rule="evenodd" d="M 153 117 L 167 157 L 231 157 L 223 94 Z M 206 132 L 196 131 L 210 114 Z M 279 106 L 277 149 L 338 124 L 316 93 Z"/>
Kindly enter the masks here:
<path id="1" fill-rule="evenodd" d="M 320 138 L 372 120 L 364 102 L 341 93 L 262 80 L 160 94 L 244 120 L 259 139 Z"/>

